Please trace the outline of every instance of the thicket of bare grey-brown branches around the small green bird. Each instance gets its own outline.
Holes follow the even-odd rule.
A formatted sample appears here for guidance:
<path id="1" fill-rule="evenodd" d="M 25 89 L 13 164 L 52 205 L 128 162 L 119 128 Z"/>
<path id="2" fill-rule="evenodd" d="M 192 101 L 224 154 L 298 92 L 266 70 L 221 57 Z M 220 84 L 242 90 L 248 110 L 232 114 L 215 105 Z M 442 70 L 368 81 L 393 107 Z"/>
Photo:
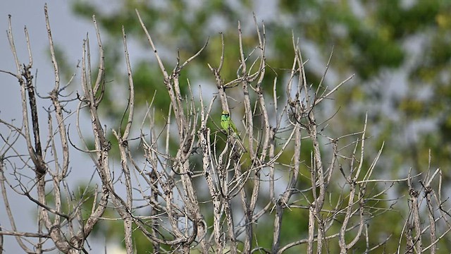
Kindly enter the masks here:
<path id="1" fill-rule="evenodd" d="M 75 111 L 77 119 L 80 119 L 82 111 L 88 112 L 92 123 L 92 135 L 89 139 L 94 141 L 94 147 L 92 150 L 74 150 L 67 134 L 67 119 L 72 114 L 65 111 L 67 101 L 61 95 L 63 88 L 60 85 L 47 6 L 45 16 L 54 63 L 55 86 L 49 96 L 44 98 L 49 99 L 53 105 L 47 114 L 46 128 L 49 132 L 44 143 L 41 140 L 44 140 L 45 135 L 39 133 L 39 118 L 42 116 L 38 115 L 35 85 L 30 72 L 30 41 L 25 29 L 30 61 L 22 65 L 16 54 L 11 19 L 8 39 L 17 72 L 1 71 L 18 79 L 23 119 L 21 125 L 0 120 L 9 130 L 9 133 L 1 133 L 3 145 L 0 150 L 0 184 L 6 213 L 11 222 L 11 226 L 1 225 L 0 235 L 1 239 L 3 236 L 15 236 L 26 253 L 43 253 L 54 249 L 63 253 L 87 253 L 87 237 L 100 220 L 109 219 L 104 217 L 107 209 L 116 211 L 123 221 L 123 239 L 127 253 L 135 251 L 133 231 L 142 232 L 154 253 L 188 253 L 192 249 L 202 253 L 282 253 L 295 246 L 305 246 L 303 250 L 307 250 L 307 253 L 322 253 L 330 249 L 347 253 L 357 245 L 362 253 L 369 253 L 384 248 L 393 239 L 399 240 L 398 253 L 422 253 L 426 250 L 437 253 L 438 242 L 451 230 L 450 214 L 445 210 L 445 200 L 441 196 L 440 169 L 424 178 L 421 190 L 416 190 L 413 183 L 419 176 L 409 175 L 406 179 L 385 181 L 373 179 L 382 147 L 373 156 L 373 161 L 367 163 L 364 154 L 366 119 L 363 130 L 358 133 L 339 138 L 326 135 L 324 126 L 327 122 L 318 119 L 316 109 L 352 76 L 332 89 L 323 85 L 323 79 L 318 85 L 309 84 L 299 42 L 293 37 L 294 57 L 290 73 L 285 81 L 273 80 L 273 97 L 268 99 L 268 93 L 264 93 L 268 87 L 263 87 L 267 69 L 265 27 L 259 26 L 257 21 L 258 44 L 250 54 L 245 54 L 241 27 L 238 27 L 240 66 L 235 80 L 225 82 L 221 78 L 226 57 L 223 52 L 218 67 L 209 65 L 218 93 L 207 106 L 202 87 L 199 87 L 199 95 L 194 95 L 191 87 L 190 94 L 184 95 L 180 91 L 179 80 L 183 69 L 206 45 L 185 62 L 180 64 L 178 61 L 173 71 L 168 73 L 137 12 L 159 63 L 171 107 L 167 122 L 161 127 L 155 123 L 151 104 L 146 119 L 142 121 L 139 138 L 130 138 L 132 127 L 136 125 L 135 91 L 123 29 L 129 97 L 125 128 L 111 130 L 117 140 L 116 148 L 120 156 L 120 167 L 113 169 L 110 164 L 112 145 L 98 111 L 106 89 L 105 60 L 99 28 L 94 18 L 99 51 L 98 74 L 93 80 L 87 38 L 82 46 L 82 93 L 77 95 L 78 107 Z M 326 72 L 327 68 L 323 78 Z M 190 83 L 187 85 L 190 86 Z M 221 102 L 222 110 L 230 111 L 227 91 L 232 88 L 241 89 L 243 95 L 245 114 L 241 135 L 247 145 L 245 152 L 237 150 L 236 144 L 230 140 L 223 148 L 218 145 L 223 133 L 212 130 L 208 124 L 218 121 L 211 117 L 216 99 Z M 285 95 L 277 93 L 280 89 L 285 91 Z M 173 120 L 175 126 L 171 123 Z M 78 122 L 77 128 L 80 140 L 84 142 Z M 174 129 L 177 131 L 174 132 Z M 175 155 L 171 155 L 173 147 L 170 139 L 178 140 Z M 25 140 L 27 155 L 19 152 L 19 140 Z M 141 144 L 144 151 L 143 162 L 130 151 L 129 145 L 132 142 Z M 302 152 L 305 150 L 301 148 L 306 143 L 311 143 L 308 162 L 302 159 Z M 88 145 L 85 144 L 85 147 Z M 68 184 L 68 169 L 77 167 L 77 164 L 70 163 L 70 151 L 85 152 L 91 157 L 97 171 L 99 186 L 94 189 L 94 199 L 89 204 L 92 205 L 92 210 L 88 216 L 82 215 L 87 193 L 81 197 L 75 196 Z M 290 159 L 284 160 L 287 156 Z M 302 169 L 307 170 L 309 175 L 302 175 Z M 25 176 L 30 175 L 30 172 L 34 172 L 35 176 L 25 183 Z M 438 176 L 440 179 L 437 182 L 435 179 Z M 309 187 L 299 188 L 301 178 L 309 179 Z M 373 219 L 390 211 L 391 208 L 384 208 L 380 204 L 404 202 L 401 198 L 385 198 L 393 191 L 393 184 L 402 182 L 407 182 L 410 190 L 410 212 L 402 235 L 388 236 L 385 240 L 374 243 L 369 225 Z M 11 190 L 23 195 L 27 202 L 37 205 L 37 231 L 23 232 L 16 226 L 17 218 L 8 205 L 7 192 Z M 47 198 L 49 190 L 52 202 Z M 67 207 L 63 207 L 64 205 Z M 421 207 L 425 205 L 429 222 L 427 226 L 421 222 Z M 295 236 L 295 241 L 287 243 L 280 238 L 283 227 L 286 226 L 283 224 L 283 215 L 292 210 L 306 211 L 308 234 Z M 273 221 L 273 241 L 270 248 L 260 246 L 255 232 L 263 218 Z M 401 250 L 402 246 L 404 250 Z"/>

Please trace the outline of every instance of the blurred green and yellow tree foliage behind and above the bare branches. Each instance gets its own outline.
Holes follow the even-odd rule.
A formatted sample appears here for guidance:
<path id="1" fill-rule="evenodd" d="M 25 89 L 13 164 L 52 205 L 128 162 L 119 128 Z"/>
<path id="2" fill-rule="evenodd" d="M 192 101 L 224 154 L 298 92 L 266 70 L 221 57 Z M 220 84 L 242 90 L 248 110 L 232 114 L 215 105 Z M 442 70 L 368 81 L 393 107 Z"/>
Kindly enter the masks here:
<path id="1" fill-rule="evenodd" d="M 379 161 L 377 171 L 387 179 L 405 177 L 409 167 L 414 171 L 427 169 L 428 150 L 432 155 L 431 167 L 450 164 L 451 1 L 116 0 L 108 6 L 101 1 L 73 1 L 73 11 L 87 20 L 95 14 L 101 32 L 107 35 L 104 40 L 106 81 L 113 89 L 106 90 L 105 99 L 109 103 L 104 102 L 104 105 L 109 107 L 103 110 L 116 124 L 123 115 L 123 107 L 118 105 L 125 104 L 120 100 L 125 98 L 119 98 L 116 93 L 126 87 L 123 84 L 127 82 L 123 64 L 119 63 L 123 50 L 121 25 L 128 32 L 129 42 L 146 52 L 132 57 L 137 104 L 145 110 L 146 102 L 150 102 L 156 92 L 166 90 L 152 52 L 148 50 L 135 8 L 140 11 L 152 37 L 156 38 L 156 47 L 167 66 L 175 66 L 178 57 L 175 49 L 178 49 L 180 59 L 187 59 L 209 38 L 206 50 L 185 71 L 192 86 L 201 83 L 203 90 L 208 84 L 212 91 L 215 90 L 214 77 L 206 64 L 218 64 L 221 55 L 218 32 L 222 32 L 226 40 L 222 78 L 228 81 L 237 77 L 237 20 L 241 20 L 243 42 L 250 51 L 257 40 L 253 11 L 257 13 L 257 20 L 264 18 L 266 26 L 267 63 L 273 70 L 266 74 L 264 87 L 268 89 L 264 92 L 268 95 L 272 92 L 271 77 L 283 79 L 288 75 L 284 68 L 292 61 L 292 34 L 299 37 L 304 59 L 309 59 L 307 77 L 314 86 L 319 84 L 334 49 L 325 86 L 335 87 L 352 73 L 356 76 L 340 88 L 335 100 L 330 102 L 333 105 L 330 109 L 339 110 L 330 124 L 333 128 L 326 128 L 326 132 L 339 135 L 359 131 L 364 114 L 368 112 L 369 133 L 375 141 L 366 155 L 375 155 L 385 141 L 383 159 Z M 230 88 L 228 93 L 235 98 L 230 106 L 239 116 L 242 111 L 240 90 Z M 154 97 L 154 106 L 161 110 L 163 120 L 169 99 L 166 92 L 158 95 L 166 96 Z M 324 109 L 325 118 L 335 114 L 330 109 Z M 221 109 L 215 107 L 214 111 L 217 113 L 213 115 L 219 116 Z M 304 146 L 303 149 L 308 161 L 310 148 Z M 445 176 L 445 180 L 450 181 L 449 177 Z M 302 218 L 299 210 L 284 217 L 288 221 L 302 221 L 299 218 Z M 395 216 L 393 220 L 397 218 Z M 307 226 L 302 224 L 307 222 L 288 226 L 282 238 L 290 238 L 294 233 L 304 234 Z M 377 225 L 373 230 L 383 231 Z M 390 233 L 399 235 L 400 230 L 390 229 Z M 137 243 L 145 244 L 145 241 Z M 397 243 L 393 244 L 397 246 Z"/>

